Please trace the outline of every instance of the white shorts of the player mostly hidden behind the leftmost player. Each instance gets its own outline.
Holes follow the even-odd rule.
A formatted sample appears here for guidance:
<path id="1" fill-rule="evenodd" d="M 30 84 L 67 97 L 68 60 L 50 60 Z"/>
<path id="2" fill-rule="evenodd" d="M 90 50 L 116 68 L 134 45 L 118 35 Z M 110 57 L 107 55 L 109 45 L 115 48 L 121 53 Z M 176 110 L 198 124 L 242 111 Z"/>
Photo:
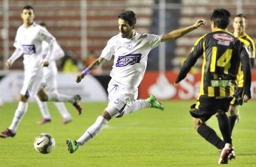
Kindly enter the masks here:
<path id="1" fill-rule="evenodd" d="M 48 92 L 57 91 L 57 67 L 55 61 L 50 61 L 49 66 L 43 67 L 43 77 Z"/>

